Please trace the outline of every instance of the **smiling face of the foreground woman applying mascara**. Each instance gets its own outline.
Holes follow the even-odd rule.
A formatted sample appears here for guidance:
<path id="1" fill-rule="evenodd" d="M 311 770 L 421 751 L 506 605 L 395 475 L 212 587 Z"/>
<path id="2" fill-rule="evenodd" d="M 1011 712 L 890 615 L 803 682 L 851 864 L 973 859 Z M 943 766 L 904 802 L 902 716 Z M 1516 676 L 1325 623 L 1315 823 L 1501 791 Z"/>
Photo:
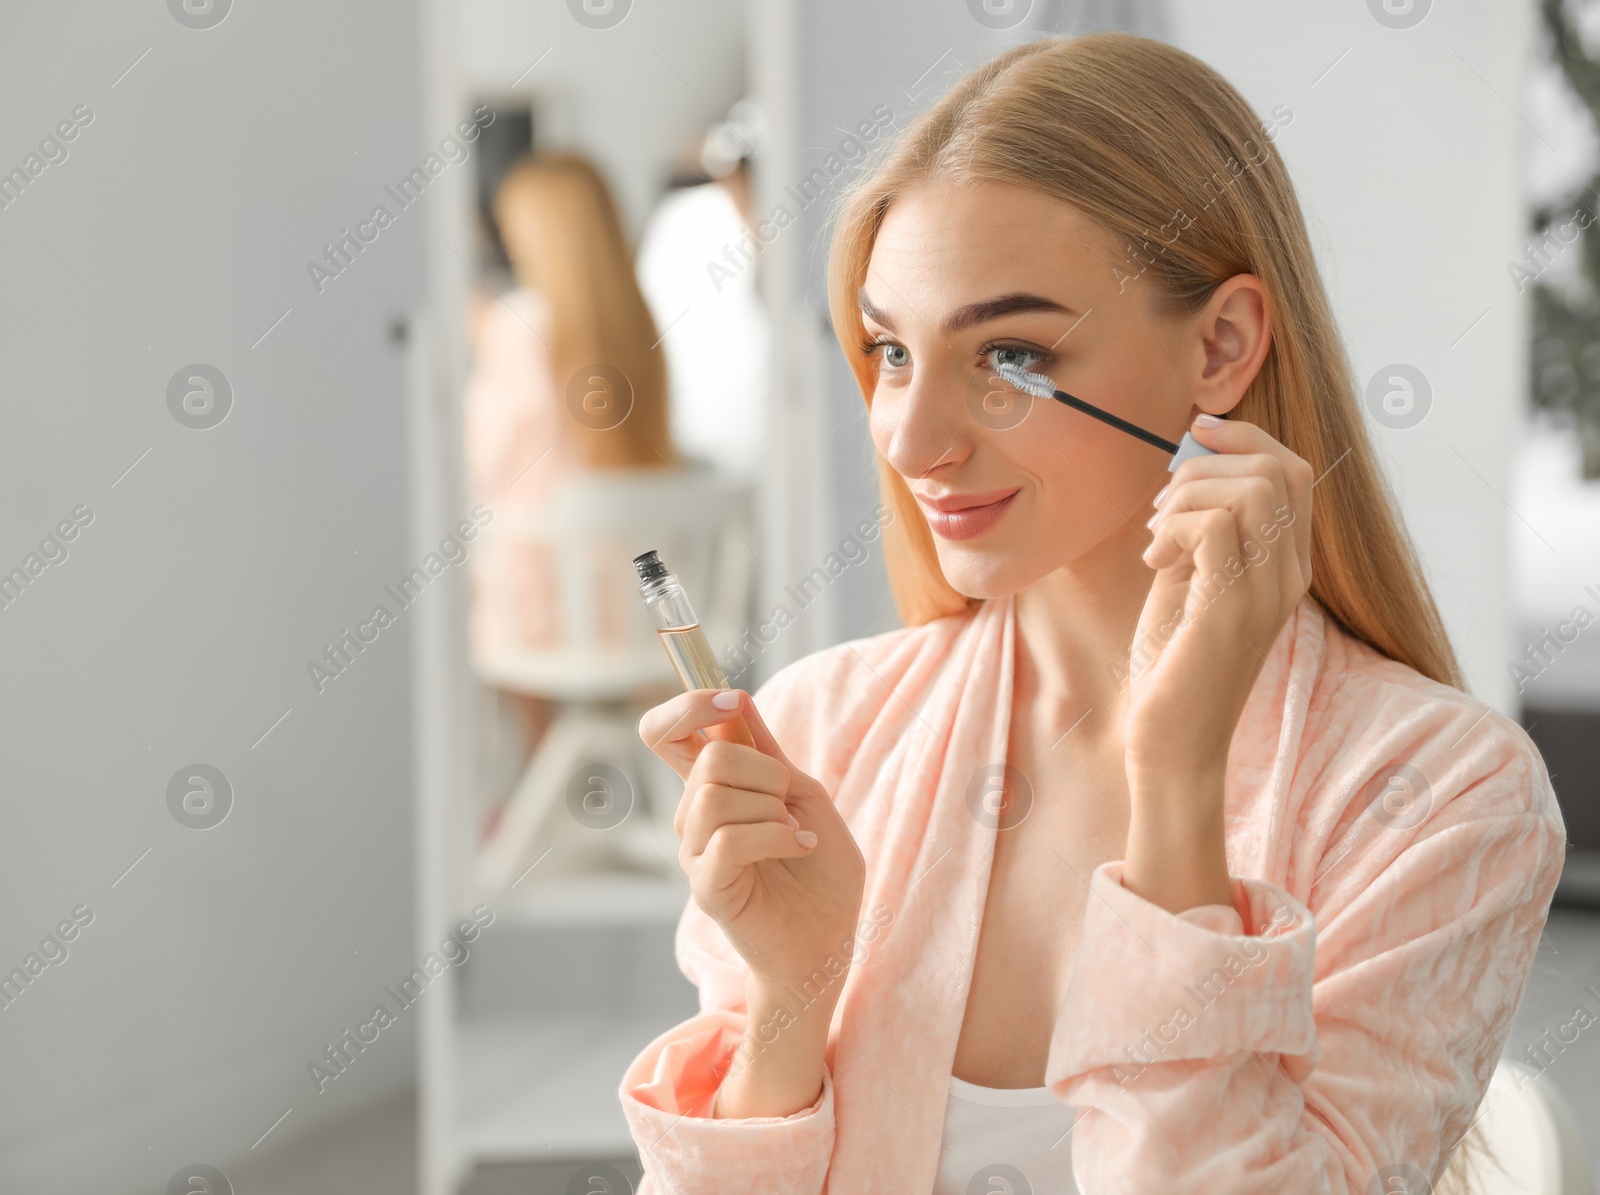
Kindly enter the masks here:
<path id="1" fill-rule="evenodd" d="M 872 442 L 960 594 L 1000 597 L 1091 552 L 1144 549 L 1171 458 L 994 374 L 1013 362 L 1182 438 L 1205 339 L 1198 320 L 1154 315 L 1154 275 L 1138 274 L 1088 216 L 1027 187 L 930 182 L 885 213 L 861 291 L 878 357 Z M 942 499 L 973 509 L 941 515 Z"/>

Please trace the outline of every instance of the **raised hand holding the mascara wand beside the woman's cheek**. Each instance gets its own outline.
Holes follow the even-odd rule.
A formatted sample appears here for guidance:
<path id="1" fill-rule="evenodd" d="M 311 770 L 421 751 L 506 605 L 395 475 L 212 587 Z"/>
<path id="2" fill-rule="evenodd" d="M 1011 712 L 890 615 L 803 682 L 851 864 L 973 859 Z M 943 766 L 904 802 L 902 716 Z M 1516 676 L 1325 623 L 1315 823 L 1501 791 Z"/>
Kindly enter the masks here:
<path id="1" fill-rule="evenodd" d="M 1194 437 L 1218 454 L 1173 472 L 1144 552 L 1155 582 L 1130 653 L 1130 781 L 1221 781 L 1245 699 L 1310 587 L 1312 467 L 1254 424 L 1205 419 Z"/>

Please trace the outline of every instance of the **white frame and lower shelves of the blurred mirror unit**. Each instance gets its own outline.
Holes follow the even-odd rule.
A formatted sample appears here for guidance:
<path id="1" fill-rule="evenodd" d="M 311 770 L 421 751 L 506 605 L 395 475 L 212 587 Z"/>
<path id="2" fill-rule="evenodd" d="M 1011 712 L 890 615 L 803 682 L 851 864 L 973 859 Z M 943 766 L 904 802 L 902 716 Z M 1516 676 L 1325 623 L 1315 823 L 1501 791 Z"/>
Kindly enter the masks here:
<path id="1" fill-rule="evenodd" d="M 640 27 L 632 30 L 630 45 L 619 37 L 627 30 L 578 27 L 565 5 L 422 0 L 421 10 L 422 45 L 430 54 L 422 80 L 422 126 L 437 130 L 435 141 L 470 114 L 478 96 L 525 96 L 536 130 L 547 117 L 544 128 L 557 139 L 592 154 L 624 206 L 630 194 L 659 187 L 662 171 L 656 165 L 642 168 L 637 158 L 640 149 L 658 150 L 653 139 L 664 138 L 651 130 L 666 117 L 634 112 L 619 123 L 597 118 L 616 90 L 611 75 L 654 70 L 666 90 L 674 80 L 661 61 L 670 61 L 680 78 L 709 90 L 696 74 L 714 56 L 707 45 L 715 38 L 701 27 L 706 22 L 674 16 L 669 24 L 680 32 L 669 34 L 643 24 L 656 18 L 635 5 L 627 21 Z M 782 163 L 800 160 L 792 61 L 797 0 L 750 0 L 746 11 L 750 45 L 744 74 L 773 130 L 757 203 L 768 211 L 781 198 L 782 184 L 797 176 Z M 486 38 L 515 45 L 493 70 L 483 66 Z M 538 66 L 525 70 L 528 62 Z M 682 99 L 694 123 L 707 118 L 701 98 L 685 91 Z M 590 131 L 602 128 L 614 141 L 586 144 L 586 122 Z M 462 314 L 469 290 L 482 285 L 462 259 L 472 245 L 472 158 L 446 170 L 430 184 L 422 208 L 432 307 L 414 315 L 410 338 L 416 478 L 411 522 L 418 555 L 437 546 L 466 504 L 459 395 L 469 354 Z M 790 237 L 765 253 L 774 331 L 811 330 L 814 314 L 797 298 L 803 290 L 800 238 Z M 774 467 L 762 478 L 758 501 L 763 609 L 826 550 L 816 542 L 827 525 L 826 493 L 803 510 L 771 501 L 779 490 L 808 485 L 821 467 L 821 406 L 798 394 L 813 386 L 818 370 L 803 354 L 795 355 L 795 342 L 779 334 L 774 344 Z M 810 488 L 826 491 L 824 485 Z M 760 664 L 763 675 L 810 649 L 811 637 L 826 633 L 824 619 L 826 611 L 819 611 L 811 625 L 768 649 Z M 494 910 L 494 921 L 470 947 L 472 958 L 445 971 L 418 1001 L 419 1192 L 454 1195 L 480 1165 L 576 1166 L 632 1157 L 634 1142 L 618 1101 L 622 1070 L 650 1040 L 696 1011 L 694 989 L 672 957 L 674 929 L 688 901 L 686 883 L 672 870 L 675 851 L 656 875 L 558 875 L 539 865 L 509 891 L 478 889 L 474 808 L 485 784 L 475 741 L 485 685 L 467 662 L 464 570 L 450 570 L 430 589 L 429 601 L 418 603 L 410 633 L 418 694 L 418 957 L 434 950 L 472 907 L 488 904 Z"/>

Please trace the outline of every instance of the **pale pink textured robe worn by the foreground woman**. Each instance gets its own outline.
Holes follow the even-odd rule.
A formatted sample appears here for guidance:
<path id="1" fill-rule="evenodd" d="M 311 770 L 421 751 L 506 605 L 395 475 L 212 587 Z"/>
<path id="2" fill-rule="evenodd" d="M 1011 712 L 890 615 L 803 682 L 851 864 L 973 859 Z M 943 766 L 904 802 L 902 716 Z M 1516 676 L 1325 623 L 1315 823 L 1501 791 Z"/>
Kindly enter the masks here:
<path id="1" fill-rule="evenodd" d="M 688 902 L 677 958 L 701 1013 L 645 1046 L 618 1093 L 640 1195 L 931 1190 L 997 833 L 968 785 L 1006 760 L 1013 608 L 818 651 L 755 694 L 861 845 L 861 941 L 816 1104 L 712 1120 L 746 966 Z M 1078 1189 L 1365 1195 L 1402 1163 L 1437 1179 L 1562 870 L 1542 760 L 1514 721 L 1307 597 L 1245 705 L 1226 801 L 1232 907 L 1170 913 L 1122 886 L 1122 861 L 1090 877 L 1045 1070 L 1078 1109 Z"/>

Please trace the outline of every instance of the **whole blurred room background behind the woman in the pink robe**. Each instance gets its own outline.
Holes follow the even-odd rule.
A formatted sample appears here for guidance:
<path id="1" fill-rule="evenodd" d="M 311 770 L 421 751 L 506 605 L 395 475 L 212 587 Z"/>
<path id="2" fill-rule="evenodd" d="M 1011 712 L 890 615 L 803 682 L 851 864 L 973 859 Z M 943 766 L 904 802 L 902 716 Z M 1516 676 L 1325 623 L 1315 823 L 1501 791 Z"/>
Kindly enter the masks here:
<path id="1" fill-rule="evenodd" d="M 1600 1157 L 1600 5 L 64 0 L 0 13 L 0 1189 L 637 1181 L 696 995 L 629 558 L 741 688 L 899 625 L 830 203 L 1107 27 L 1290 163 L 1562 801 L 1506 1056 Z"/>

